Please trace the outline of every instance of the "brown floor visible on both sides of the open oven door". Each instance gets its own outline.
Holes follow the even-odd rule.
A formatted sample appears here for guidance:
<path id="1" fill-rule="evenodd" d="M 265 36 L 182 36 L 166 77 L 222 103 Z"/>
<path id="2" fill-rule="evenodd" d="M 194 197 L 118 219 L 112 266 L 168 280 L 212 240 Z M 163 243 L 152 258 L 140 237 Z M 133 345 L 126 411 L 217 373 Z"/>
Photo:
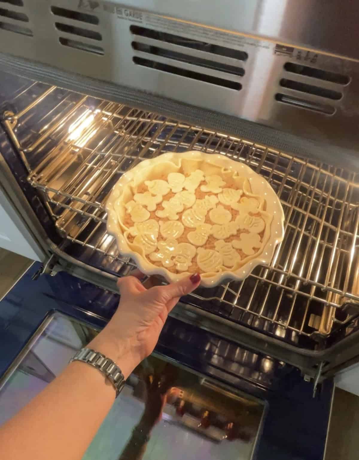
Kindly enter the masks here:
<path id="1" fill-rule="evenodd" d="M 32 260 L 0 248 L 0 299 L 12 288 Z M 325 460 L 356 460 L 359 451 L 359 397 L 336 389 Z"/>

